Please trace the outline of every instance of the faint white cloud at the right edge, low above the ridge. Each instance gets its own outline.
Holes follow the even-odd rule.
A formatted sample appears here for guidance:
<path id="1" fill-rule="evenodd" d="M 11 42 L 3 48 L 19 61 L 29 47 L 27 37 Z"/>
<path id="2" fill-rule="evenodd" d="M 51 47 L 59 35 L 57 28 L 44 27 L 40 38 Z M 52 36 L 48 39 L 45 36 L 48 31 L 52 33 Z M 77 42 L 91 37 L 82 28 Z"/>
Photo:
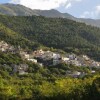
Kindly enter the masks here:
<path id="1" fill-rule="evenodd" d="M 81 16 L 81 18 L 100 18 L 100 5 L 97 5 L 93 11 L 85 11 Z"/>

